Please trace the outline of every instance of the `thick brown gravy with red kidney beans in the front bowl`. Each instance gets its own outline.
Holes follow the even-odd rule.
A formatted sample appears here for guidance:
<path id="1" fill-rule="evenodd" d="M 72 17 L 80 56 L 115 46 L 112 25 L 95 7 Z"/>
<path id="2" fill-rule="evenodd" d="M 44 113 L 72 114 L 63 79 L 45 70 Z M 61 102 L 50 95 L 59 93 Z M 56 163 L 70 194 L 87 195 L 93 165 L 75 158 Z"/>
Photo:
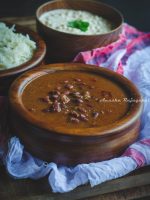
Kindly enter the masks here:
<path id="1" fill-rule="evenodd" d="M 127 114 L 127 94 L 108 78 L 82 71 L 38 77 L 22 94 L 30 114 L 49 127 L 89 128 L 111 124 Z"/>

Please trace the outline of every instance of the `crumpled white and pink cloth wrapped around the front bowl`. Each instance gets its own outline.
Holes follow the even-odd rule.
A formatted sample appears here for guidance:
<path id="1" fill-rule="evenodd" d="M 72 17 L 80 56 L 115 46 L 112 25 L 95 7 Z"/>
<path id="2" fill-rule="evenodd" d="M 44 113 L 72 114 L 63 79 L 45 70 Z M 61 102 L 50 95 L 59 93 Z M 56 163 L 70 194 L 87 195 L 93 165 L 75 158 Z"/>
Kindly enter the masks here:
<path id="1" fill-rule="evenodd" d="M 81 52 L 74 62 L 102 66 L 126 76 L 142 93 L 144 111 L 138 140 L 121 157 L 103 162 L 80 164 L 75 167 L 58 166 L 33 157 L 24 150 L 17 137 L 10 139 L 8 151 L 4 153 L 3 139 L 0 139 L 0 157 L 11 176 L 17 179 L 39 179 L 48 175 L 53 192 L 60 193 L 71 191 L 86 183 L 95 186 L 150 164 L 150 34 L 124 24 L 117 42 L 107 47 Z M 1 110 L 5 104 L 3 100 L 4 98 L 0 98 Z M 0 119 L 2 124 L 3 117 Z M 0 138 L 3 138 L 1 131 L 2 129 Z"/>

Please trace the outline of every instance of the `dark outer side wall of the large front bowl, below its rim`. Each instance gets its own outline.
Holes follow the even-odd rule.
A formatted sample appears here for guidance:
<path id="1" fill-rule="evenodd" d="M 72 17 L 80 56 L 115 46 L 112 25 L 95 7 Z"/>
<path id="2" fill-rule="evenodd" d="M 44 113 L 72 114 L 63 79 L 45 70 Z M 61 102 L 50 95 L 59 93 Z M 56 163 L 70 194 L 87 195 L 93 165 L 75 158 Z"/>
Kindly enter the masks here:
<path id="1" fill-rule="evenodd" d="M 127 129 L 109 137 L 97 136 L 81 141 L 80 137 L 74 140 L 72 136 L 58 136 L 56 140 L 53 133 L 37 129 L 14 113 L 11 119 L 13 132 L 20 138 L 27 151 L 47 162 L 63 165 L 98 162 L 119 156 L 137 139 L 140 127 L 138 119 Z M 30 134 L 27 134 L 29 131 Z"/>

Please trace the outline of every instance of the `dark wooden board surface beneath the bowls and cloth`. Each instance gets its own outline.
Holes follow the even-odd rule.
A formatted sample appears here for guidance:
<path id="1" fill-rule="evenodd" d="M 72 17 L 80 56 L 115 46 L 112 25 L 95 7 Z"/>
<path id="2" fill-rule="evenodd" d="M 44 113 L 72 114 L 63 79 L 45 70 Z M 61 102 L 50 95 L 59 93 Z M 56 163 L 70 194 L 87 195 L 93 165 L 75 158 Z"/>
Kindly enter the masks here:
<path id="1" fill-rule="evenodd" d="M 1 18 L 35 30 L 34 17 Z M 138 169 L 119 179 L 102 183 L 94 188 L 78 187 L 65 194 L 52 193 L 47 177 L 40 180 L 14 180 L 0 167 L 0 200 L 126 200 L 150 199 L 150 166 Z"/>

